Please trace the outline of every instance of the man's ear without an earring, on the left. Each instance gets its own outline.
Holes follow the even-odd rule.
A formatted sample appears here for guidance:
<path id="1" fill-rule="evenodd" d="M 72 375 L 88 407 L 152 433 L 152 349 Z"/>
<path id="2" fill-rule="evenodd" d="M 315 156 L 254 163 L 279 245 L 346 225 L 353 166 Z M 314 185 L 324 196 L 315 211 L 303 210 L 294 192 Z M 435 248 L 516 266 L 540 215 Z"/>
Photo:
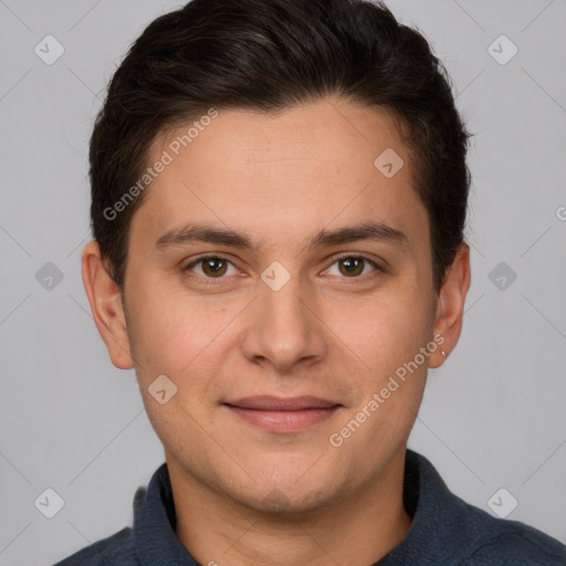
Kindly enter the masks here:
<path id="1" fill-rule="evenodd" d="M 94 322 L 108 348 L 112 363 L 119 369 L 130 369 L 134 360 L 119 286 L 106 271 L 98 243 L 94 240 L 83 249 L 82 271 Z"/>

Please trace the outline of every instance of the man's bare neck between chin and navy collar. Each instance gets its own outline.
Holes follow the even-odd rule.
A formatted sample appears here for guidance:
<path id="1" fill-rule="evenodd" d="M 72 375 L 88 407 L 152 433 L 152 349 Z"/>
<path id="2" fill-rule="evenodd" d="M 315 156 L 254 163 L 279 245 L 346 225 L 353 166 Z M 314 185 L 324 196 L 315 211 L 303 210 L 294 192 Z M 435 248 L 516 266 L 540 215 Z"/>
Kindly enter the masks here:
<path id="1" fill-rule="evenodd" d="M 203 486 L 171 462 L 176 534 L 200 564 L 213 566 L 371 565 L 406 536 L 405 452 L 386 474 L 339 501 L 303 513 L 258 511 Z"/>

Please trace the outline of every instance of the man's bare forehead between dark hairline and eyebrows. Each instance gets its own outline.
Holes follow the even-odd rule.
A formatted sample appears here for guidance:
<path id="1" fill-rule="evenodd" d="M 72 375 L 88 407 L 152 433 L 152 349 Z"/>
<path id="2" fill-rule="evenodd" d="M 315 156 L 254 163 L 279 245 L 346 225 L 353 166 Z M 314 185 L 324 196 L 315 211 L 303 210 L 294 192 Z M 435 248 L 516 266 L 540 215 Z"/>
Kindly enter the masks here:
<path id="1" fill-rule="evenodd" d="M 161 235 L 198 221 L 304 241 L 322 227 L 378 220 L 418 241 L 428 219 L 398 125 L 385 108 L 339 99 L 219 108 L 155 140 L 148 165 L 168 165 L 133 224 Z"/>

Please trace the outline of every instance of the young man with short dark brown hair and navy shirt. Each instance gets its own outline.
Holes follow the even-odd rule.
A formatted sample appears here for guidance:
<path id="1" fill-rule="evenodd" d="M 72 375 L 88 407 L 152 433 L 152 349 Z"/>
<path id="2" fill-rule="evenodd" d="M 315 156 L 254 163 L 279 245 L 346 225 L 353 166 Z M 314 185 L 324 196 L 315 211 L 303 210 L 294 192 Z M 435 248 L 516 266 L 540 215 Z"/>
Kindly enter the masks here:
<path id="1" fill-rule="evenodd" d="M 193 0 L 117 70 L 83 279 L 166 463 L 72 565 L 560 565 L 407 450 L 470 286 L 469 134 L 363 0 Z"/>

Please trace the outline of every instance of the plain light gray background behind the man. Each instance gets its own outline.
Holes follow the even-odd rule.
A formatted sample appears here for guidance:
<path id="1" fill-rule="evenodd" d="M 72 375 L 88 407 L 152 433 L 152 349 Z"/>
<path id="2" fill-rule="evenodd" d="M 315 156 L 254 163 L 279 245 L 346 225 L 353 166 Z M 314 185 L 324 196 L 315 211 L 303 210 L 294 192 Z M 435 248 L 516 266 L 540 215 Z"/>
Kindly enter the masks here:
<path id="1" fill-rule="evenodd" d="M 0 0 L 0 565 L 49 565 L 129 525 L 135 489 L 164 461 L 134 371 L 97 334 L 80 258 L 107 81 L 177 6 Z M 463 332 L 429 374 L 409 446 L 470 503 L 492 513 L 505 488 L 507 518 L 566 543 L 566 1 L 389 6 L 432 42 L 476 134 Z M 34 52 L 48 34 L 65 50 L 52 65 Z M 518 48 L 506 64 L 489 52 L 501 34 Z M 36 277 L 48 262 L 63 275 L 51 289 L 52 266 Z M 34 505 L 46 488 L 64 500 L 51 520 Z"/>

